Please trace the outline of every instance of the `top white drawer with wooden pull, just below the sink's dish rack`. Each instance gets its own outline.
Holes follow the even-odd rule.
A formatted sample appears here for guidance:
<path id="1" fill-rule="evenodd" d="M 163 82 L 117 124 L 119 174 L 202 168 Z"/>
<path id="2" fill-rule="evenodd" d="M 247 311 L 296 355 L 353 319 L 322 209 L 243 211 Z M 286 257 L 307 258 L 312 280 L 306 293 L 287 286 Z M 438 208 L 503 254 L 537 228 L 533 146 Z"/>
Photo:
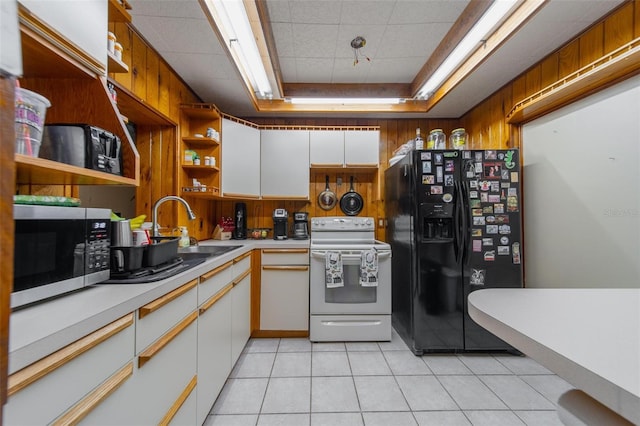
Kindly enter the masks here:
<path id="1" fill-rule="evenodd" d="M 136 354 L 197 308 L 198 280 L 192 280 L 138 309 Z"/>

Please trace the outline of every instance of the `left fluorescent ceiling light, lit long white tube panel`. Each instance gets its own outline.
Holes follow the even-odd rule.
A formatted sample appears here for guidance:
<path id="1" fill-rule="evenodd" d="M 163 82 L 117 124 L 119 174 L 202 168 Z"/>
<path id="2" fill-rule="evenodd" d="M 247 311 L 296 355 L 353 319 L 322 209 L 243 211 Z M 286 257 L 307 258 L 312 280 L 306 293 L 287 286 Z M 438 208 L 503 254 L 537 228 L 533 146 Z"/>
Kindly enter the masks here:
<path id="1" fill-rule="evenodd" d="M 249 17 L 241 0 L 206 0 L 225 43 L 235 53 L 234 59 L 249 79 L 254 93 L 262 98 L 272 95 L 271 84 L 260 57 Z"/>

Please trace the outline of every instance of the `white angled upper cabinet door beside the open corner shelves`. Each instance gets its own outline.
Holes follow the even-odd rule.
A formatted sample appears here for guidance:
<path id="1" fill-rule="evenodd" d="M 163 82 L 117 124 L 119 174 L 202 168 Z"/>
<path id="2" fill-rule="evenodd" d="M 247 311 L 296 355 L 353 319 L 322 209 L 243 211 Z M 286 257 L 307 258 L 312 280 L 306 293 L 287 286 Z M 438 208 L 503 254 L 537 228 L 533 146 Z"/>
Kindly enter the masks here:
<path id="1" fill-rule="evenodd" d="M 260 196 L 260 130 L 222 120 L 222 195 Z"/>

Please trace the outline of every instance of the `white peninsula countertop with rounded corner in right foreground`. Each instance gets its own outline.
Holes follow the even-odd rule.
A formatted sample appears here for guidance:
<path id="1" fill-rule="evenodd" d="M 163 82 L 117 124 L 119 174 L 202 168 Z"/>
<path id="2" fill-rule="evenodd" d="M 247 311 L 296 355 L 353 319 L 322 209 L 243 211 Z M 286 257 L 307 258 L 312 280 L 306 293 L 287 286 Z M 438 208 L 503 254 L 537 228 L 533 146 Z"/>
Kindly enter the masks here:
<path id="1" fill-rule="evenodd" d="M 640 424 L 640 289 L 484 289 L 474 321 Z"/>

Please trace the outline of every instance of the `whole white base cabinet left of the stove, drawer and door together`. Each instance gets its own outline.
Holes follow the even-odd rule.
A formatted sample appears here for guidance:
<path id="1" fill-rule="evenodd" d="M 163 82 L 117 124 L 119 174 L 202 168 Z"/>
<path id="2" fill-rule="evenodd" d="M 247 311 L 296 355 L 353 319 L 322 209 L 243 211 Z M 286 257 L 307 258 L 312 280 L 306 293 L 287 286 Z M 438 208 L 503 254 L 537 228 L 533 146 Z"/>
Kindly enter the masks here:
<path id="1" fill-rule="evenodd" d="M 309 330 L 309 250 L 262 250 L 260 330 Z"/>

